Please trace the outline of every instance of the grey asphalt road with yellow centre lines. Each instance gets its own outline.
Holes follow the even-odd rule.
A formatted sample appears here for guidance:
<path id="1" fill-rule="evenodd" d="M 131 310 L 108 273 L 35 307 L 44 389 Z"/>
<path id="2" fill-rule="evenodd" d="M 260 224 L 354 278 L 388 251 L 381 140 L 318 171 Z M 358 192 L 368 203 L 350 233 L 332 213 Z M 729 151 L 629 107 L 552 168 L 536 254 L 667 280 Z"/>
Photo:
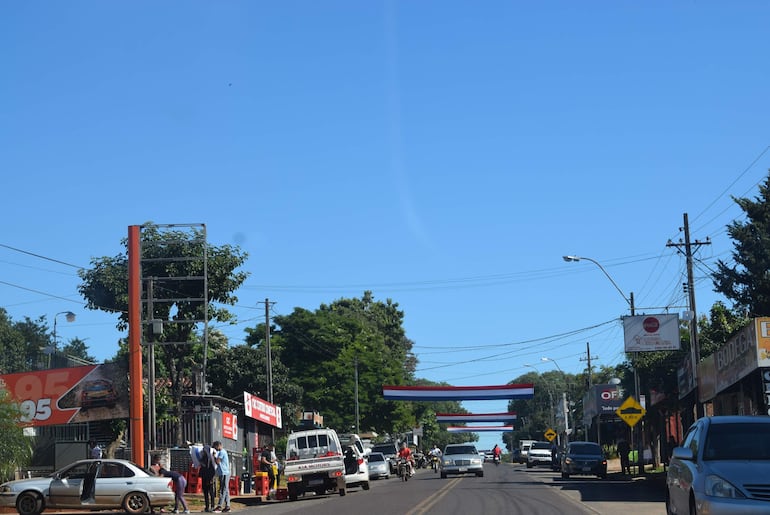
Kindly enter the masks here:
<path id="1" fill-rule="evenodd" d="M 239 512 L 319 515 L 423 514 L 600 514 L 664 515 L 659 484 L 613 476 L 561 479 L 545 468 L 523 465 L 484 465 L 484 477 L 450 476 L 441 479 L 430 469 L 418 470 L 407 482 L 397 478 L 371 482 L 369 491 L 353 488 L 344 497 L 308 494 L 294 502 L 258 504 L 238 498 Z"/>

